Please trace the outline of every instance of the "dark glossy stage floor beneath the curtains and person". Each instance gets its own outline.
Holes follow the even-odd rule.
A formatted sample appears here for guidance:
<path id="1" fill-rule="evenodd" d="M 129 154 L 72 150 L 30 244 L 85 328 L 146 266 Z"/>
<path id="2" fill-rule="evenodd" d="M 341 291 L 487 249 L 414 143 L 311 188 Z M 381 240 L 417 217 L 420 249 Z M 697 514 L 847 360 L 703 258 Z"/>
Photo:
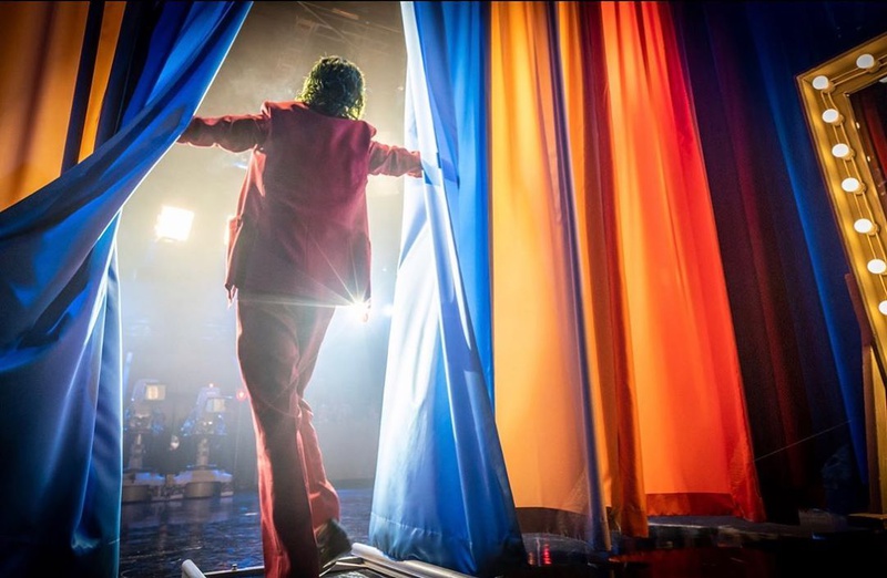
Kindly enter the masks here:
<path id="1" fill-rule="evenodd" d="M 368 545 L 371 488 L 340 487 L 339 494 L 343 526 L 353 541 Z M 547 535 L 524 536 L 524 544 L 532 565 L 504 578 L 887 576 L 883 523 L 860 524 L 815 512 L 802 513 L 799 525 L 730 517 L 651 518 L 649 538 L 615 538 L 616 554 L 609 556 Z M 180 578 L 185 560 L 204 574 L 261 567 L 255 492 L 123 505 L 121 578 Z M 394 576 L 361 567 L 360 558 L 345 561 L 349 564 L 330 575 Z"/>

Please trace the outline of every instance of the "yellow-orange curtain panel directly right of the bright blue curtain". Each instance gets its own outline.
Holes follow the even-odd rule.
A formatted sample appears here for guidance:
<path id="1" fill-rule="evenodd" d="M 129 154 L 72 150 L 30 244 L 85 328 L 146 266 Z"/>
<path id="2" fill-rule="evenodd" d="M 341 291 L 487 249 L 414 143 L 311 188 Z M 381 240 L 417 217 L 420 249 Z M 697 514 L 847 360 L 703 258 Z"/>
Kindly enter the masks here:
<path id="1" fill-rule="evenodd" d="M 490 223 L 496 421 L 523 531 L 584 536 L 588 420 L 543 2 L 493 2 Z M 602 513 L 597 513 L 603 517 Z"/>

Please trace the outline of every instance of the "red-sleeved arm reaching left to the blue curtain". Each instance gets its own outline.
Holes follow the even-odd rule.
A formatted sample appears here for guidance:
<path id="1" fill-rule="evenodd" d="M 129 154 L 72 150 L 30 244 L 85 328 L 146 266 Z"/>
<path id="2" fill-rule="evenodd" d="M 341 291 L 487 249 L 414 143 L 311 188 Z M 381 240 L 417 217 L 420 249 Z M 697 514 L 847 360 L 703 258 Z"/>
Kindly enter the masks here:
<path id="1" fill-rule="evenodd" d="M 194 146 L 218 146 L 239 153 L 262 145 L 267 132 L 268 117 L 264 114 L 214 118 L 195 116 L 176 142 Z"/>

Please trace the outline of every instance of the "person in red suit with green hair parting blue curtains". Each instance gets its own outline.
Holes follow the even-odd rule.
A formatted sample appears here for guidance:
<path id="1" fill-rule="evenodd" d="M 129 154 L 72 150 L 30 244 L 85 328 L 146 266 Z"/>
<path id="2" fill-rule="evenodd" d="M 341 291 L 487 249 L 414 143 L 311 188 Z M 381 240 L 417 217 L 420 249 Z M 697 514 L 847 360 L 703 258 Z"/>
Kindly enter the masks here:
<path id="1" fill-rule="evenodd" d="M 252 151 L 225 287 L 253 409 L 269 577 L 317 578 L 351 546 L 303 394 L 335 307 L 370 298 L 368 175 L 421 176 L 418 153 L 374 141 L 364 95 L 360 70 L 325 56 L 297 100 L 194 117 L 179 138 Z"/>

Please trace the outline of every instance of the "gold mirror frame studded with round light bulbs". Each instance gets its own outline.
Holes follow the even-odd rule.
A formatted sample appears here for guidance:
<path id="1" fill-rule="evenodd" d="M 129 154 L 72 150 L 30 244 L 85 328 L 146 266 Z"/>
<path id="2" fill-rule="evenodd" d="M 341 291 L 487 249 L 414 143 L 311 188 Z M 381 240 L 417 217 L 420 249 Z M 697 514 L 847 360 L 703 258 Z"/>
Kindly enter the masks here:
<path id="1" fill-rule="evenodd" d="M 887 74 L 887 33 L 797 76 L 819 166 L 855 283 L 869 472 L 869 512 L 887 503 L 887 215 L 869 165 L 852 96 Z M 885 128 L 887 130 L 887 128 Z M 843 154 L 846 153 L 846 154 Z M 867 229 L 866 226 L 871 228 Z M 867 327 L 866 327 L 867 324 Z"/>

